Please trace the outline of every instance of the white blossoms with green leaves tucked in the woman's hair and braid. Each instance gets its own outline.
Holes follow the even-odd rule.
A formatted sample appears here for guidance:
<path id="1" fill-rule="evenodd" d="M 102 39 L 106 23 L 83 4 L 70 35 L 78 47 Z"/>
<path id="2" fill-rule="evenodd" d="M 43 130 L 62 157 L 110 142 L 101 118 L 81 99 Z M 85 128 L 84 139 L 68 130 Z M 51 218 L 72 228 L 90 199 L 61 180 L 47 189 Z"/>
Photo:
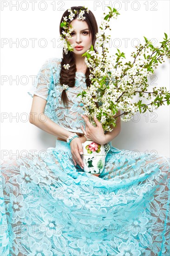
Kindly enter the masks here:
<path id="1" fill-rule="evenodd" d="M 89 13 L 89 9 L 85 6 L 83 6 L 79 11 L 77 10 L 73 10 L 70 8 L 68 9 L 68 12 L 70 13 L 69 16 L 65 16 L 63 18 L 63 21 L 60 23 L 60 27 L 63 27 L 65 29 L 65 31 L 62 31 L 62 34 L 60 35 L 61 40 L 64 40 L 64 52 L 65 54 L 68 54 L 68 51 L 72 52 L 73 51 L 73 47 L 74 44 L 70 44 L 70 42 L 68 40 L 65 39 L 66 38 L 71 38 L 71 33 L 72 33 L 72 25 L 70 24 L 71 28 L 68 28 L 69 26 L 69 22 L 67 22 L 68 20 L 73 20 L 73 17 L 75 17 L 76 14 L 78 14 L 78 20 L 85 20 L 85 16 L 83 16 L 83 14 L 85 14 L 85 10 L 82 9 L 86 9 L 86 12 Z M 65 69 L 69 69 L 70 65 L 69 64 L 64 64 L 63 67 Z M 67 84 L 63 84 L 63 90 L 67 90 L 69 88 L 69 86 Z"/>

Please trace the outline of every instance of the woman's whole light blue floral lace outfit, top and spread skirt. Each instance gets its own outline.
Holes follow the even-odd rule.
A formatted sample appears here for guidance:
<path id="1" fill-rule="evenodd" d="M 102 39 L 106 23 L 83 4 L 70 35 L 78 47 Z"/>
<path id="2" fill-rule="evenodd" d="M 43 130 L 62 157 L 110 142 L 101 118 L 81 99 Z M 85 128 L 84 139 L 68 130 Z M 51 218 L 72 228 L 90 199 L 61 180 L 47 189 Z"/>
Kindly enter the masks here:
<path id="1" fill-rule="evenodd" d="M 82 133 L 85 74 L 76 72 L 61 102 L 60 58 L 46 60 L 29 95 L 45 99 L 45 114 Z M 0 166 L 0 256 L 170 255 L 170 165 L 162 155 L 111 148 L 99 177 L 72 161 L 56 140 L 44 155 L 4 159 Z"/>

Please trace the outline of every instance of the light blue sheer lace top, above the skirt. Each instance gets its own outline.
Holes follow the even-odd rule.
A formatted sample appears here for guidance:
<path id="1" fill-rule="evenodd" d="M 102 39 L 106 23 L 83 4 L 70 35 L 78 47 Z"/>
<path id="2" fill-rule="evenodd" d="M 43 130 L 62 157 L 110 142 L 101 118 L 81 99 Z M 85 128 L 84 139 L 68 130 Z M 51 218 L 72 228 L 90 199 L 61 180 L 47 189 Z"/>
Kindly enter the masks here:
<path id="1" fill-rule="evenodd" d="M 71 132 L 82 133 L 81 126 L 85 129 L 83 103 L 80 102 L 81 95 L 77 94 L 87 89 L 85 74 L 76 72 L 75 86 L 66 90 L 68 108 L 61 101 L 63 86 L 59 83 L 62 58 L 49 58 L 45 61 L 36 76 L 32 88 L 27 92 L 45 99 L 46 107 L 44 114 L 52 121 Z M 66 70 L 65 70 L 66 71 Z"/>

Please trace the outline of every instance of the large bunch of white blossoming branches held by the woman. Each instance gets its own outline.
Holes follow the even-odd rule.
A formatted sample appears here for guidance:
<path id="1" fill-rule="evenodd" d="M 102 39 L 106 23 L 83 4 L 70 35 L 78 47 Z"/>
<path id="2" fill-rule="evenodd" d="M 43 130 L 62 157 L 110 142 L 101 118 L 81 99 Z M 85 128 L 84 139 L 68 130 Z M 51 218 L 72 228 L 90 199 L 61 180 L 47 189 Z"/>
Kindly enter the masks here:
<path id="1" fill-rule="evenodd" d="M 93 46 L 82 56 L 90 69 L 89 79 L 91 86 L 82 91 L 85 115 L 89 117 L 92 125 L 94 115 L 102 123 L 104 131 L 111 131 L 111 126 L 116 126 L 114 115 L 120 110 L 122 121 L 129 121 L 136 112 L 144 113 L 147 109 L 152 112 L 164 102 L 170 104 L 170 93 L 165 87 L 149 88 L 147 77 L 154 73 L 158 63 L 164 62 L 164 57 L 170 58 L 170 39 L 164 33 L 160 47 L 154 47 L 146 37 L 145 44 L 140 44 L 136 52 L 132 52 L 130 61 L 124 62 L 125 54 L 120 52 L 110 55 L 104 43 L 108 42 L 110 35 L 109 21 L 117 18 L 118 11 L 111 7 L 100 25 L 100 31 L 96 35 L 96 46 L 101 52 L 95 52 Z M 106 13 L 104 13 L 106 14 Z M 148 102 L 144 102 L 148 101 Z M 142 112 L 143 111 L 143 112 Z"/>

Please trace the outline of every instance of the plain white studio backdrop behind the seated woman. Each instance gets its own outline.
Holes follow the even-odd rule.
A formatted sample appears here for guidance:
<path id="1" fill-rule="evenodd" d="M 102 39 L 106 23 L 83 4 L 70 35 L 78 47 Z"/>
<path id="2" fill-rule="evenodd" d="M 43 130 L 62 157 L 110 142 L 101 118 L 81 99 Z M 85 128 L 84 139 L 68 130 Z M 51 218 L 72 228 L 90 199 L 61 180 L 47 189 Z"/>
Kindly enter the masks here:
<path id="1" fill-rule="evenodd" d="M 19 3 L 18 10 L 12 6 L 16 2 Z M 126 1 L 127 8 L 125 1 L 46 1 L 45 11 L 39 9 L 39 0 L 35 3 L 35 10 L 32 10 L 29 1 L 22 1 L 22 6 L 20 2 L 20 0 L 1 1 L 1 159 L 5 153 L 6 156 L 10 153 L 21 155 L 22 150 L 30 152 L 55 147 L 55 136 L 29 122 L 32 98 L 27 91 L 32 86 L 31 76 L 38 73 L 46 59 L 62 57 L 63 46 L 59 42 L 59 23 L 66 9 L 85 4 L 85 7 L 94 13 L 99 27 L 101 17 L 105 16 L 103 13 L 108 13 L 105 5 L 117 8 L 120 15 L 117 20 L 111 21 L 110 52 L 115 54 L 118 47 L 125 53 L 127 61 L 131 52 L 135 50 L 137 40 L 144 44 L 144 36 L 148 39 L 156 39 L 155 46 L 160 46 L 159 42 L 163 40 L 164 32 L 170 38 L 169 0 Z M 55 7 L 52 5 L 54 2 Z M 26 3 L 28 9 L 24 11 L 21 8 L 25 9 Z M 8 6 L 3 8 L 2 4 Z M 45 5 L 41 3 L 40 7 L 44 8 Z M 23 38 L 28 42 L 27 46 L 25 46 L 26 41 L 22 41 Z M 37 39 L 34 47 L 31 38 Z M 47 41 L 46 47 L 38 44 L 42 38 Z M 54 39 L 55 47 L 52 43 Z M 127 45 L 125 39 L 129 39 Z M 17 40 L 19 44 L 11 43 Z M 120 46 L 118 46 L 119 42 Z M 156 83 L 155 86 L 166 86 L 169 90 L 170 60 L 166 59 L 164 63 L 159 64 L 154 75 L 156 80 L 152 78 L 151 81 Z M 7 76 L 8 81 L 2 82 L 2 76 Z M 10 81 L 17 76 L 18 82 Z M 22 76 L 27 79 L 21 80 Z M 162 106 L 152 114 L 148 111 L 146 113 L 136 115 L 132 121 L 122 121 L 121 132 L 112 141 L 112 145 L 120 149 L 156 152 L 169 157 L 169 106 Z"/>

